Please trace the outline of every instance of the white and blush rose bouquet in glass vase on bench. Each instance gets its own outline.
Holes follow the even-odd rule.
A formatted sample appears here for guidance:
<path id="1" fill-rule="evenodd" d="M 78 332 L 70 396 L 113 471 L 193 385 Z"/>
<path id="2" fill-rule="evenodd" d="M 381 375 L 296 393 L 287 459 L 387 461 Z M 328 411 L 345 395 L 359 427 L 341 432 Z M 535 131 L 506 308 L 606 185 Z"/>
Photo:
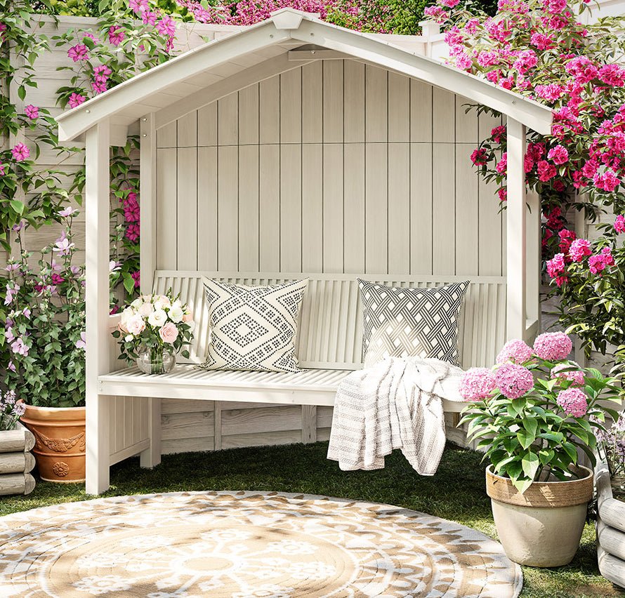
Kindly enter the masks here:
<path id="1" fill-rule="evenodd" d="M 119 339 L 119 359 L 135 361 L 145 373 L 164 373 L 176 363 L 176 353 L 193 338 L 194 323 L 187 305 L 174 296 L 141 295 L 123 312 L 119 329 L 112 335 Z M 188 350 L 182 350 L 189 357 Z"/>

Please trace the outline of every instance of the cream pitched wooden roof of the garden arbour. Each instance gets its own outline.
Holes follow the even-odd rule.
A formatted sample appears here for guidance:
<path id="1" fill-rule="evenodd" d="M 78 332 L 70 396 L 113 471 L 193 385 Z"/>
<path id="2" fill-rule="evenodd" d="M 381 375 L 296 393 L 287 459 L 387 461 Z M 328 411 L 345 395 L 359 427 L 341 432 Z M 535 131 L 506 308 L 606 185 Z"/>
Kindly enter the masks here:
<path id="1" fill-rule="evenodd" d="M 128 126 L 151 112 L 159 128 L 233 91 L 323 58 L 327 51 L 457 93 L 539 133 L 550 131 L 548 107 L 414 53 L 400 39 L 344 29 L 318 15 L 282 8 L 267 20 L 209 41 L 60 114 L 59 138 L 79 140 L 88 128 L 107 118 L 113 137 L 117 133 L 125 138 Z"/>

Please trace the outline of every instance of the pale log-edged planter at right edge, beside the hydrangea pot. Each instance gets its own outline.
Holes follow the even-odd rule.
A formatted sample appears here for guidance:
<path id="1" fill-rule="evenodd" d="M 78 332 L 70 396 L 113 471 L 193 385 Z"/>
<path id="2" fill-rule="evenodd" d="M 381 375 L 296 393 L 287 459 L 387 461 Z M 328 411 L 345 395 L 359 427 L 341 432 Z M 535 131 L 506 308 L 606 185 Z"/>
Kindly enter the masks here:
<path id="1" fill-rule="evenodd" d="M 612 496 L 610 469 L 597 460 L 597 557 L 607 580 L 625 587 L 625 503 Z"/>

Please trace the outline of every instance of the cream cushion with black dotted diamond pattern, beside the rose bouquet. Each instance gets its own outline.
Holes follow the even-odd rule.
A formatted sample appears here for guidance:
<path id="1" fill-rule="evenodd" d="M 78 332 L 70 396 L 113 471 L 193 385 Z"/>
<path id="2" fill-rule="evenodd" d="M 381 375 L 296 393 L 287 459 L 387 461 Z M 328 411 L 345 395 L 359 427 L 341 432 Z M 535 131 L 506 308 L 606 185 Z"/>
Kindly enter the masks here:
<path id="1" fill-rule="evenodd" d="M 297 316 L 308 279 L 245 286 L 203 279 L 209 310 L 209 370 L 299 371 Z"/>

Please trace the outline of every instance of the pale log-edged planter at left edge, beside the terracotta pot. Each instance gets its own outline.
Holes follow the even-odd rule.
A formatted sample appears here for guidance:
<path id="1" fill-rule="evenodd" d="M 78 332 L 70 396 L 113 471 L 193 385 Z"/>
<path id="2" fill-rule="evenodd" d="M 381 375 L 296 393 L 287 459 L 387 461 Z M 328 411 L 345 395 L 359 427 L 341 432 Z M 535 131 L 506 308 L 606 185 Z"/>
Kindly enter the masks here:
<path id="1" fill-rule="evenodd" d="M 33 446 L 34 436 L 20 423 L 13 430 L 0 430 L 0 496 L 33 491 Z"/>

